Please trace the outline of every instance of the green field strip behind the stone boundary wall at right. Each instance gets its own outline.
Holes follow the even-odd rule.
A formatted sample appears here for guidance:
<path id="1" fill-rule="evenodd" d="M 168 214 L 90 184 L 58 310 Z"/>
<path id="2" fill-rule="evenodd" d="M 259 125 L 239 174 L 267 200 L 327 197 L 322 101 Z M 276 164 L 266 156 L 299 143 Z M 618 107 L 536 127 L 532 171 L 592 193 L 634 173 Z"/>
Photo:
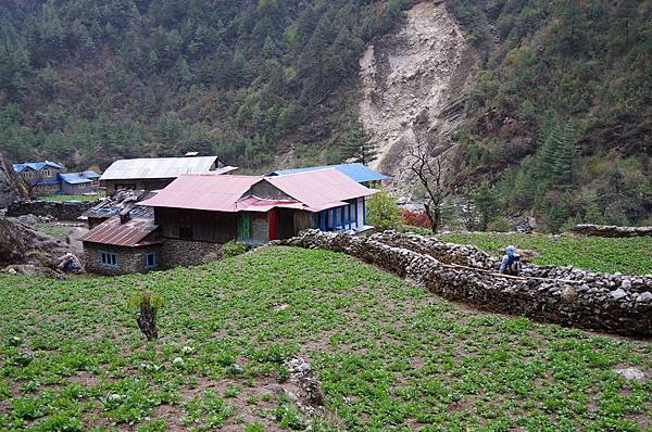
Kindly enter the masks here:
<path id="1" fill-rule="evenodd" d="M 438 239 L 461 244 L 473 244 L 492 255 L 504 254 L 513 244 L 536 251 L 535 264 L 584 268 L 593 271 L 624 275 L 647 275 L 652 271 L 652 240 L 639 237 L 606 239 L 601 237 L 572 237 L 522 234 L 503 232 L 454 232 L 438 234 Z"/>

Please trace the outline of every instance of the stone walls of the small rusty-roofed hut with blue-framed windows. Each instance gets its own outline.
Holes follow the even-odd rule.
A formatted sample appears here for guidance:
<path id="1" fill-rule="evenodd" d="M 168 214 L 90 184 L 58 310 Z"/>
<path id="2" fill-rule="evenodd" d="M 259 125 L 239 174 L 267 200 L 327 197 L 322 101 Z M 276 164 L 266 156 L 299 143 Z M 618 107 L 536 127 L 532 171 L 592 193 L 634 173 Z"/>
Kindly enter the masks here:
<path id="1" fill-rule="evenodd" d="M 140 247 L 124 247 L 85 242 L 83 263 L 86 271 L 98 275 L 115 276 L 147 272 L 153 269 L 146 267 L 145 254 L 156 252 L 156 258 L 159 258 L 159 247 L 160 245 L 158 244 Z M 101 264 L 102 252 L 115 253 L 117 255 L 117 267 L 103 266 Z"/>

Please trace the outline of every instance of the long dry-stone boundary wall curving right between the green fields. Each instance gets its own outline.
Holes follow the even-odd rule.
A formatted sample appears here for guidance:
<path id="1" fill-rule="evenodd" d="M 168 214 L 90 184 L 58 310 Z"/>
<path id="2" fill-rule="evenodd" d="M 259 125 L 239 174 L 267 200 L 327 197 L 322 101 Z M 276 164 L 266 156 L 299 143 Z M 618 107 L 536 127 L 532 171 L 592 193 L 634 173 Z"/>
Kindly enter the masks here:
<path id="1" fill-rule="evenodd" d="M 601 276 L 595 277 L 592 282 L 497 277 L 486 271 L 488 268 L 478 259 L 486 254 L 475 247 L 396 232 L 374 234 L 365 239 L 306 230 L 299 237 L 276 243 L 343 252 L 415 281 L 444 298 L 485 310 L 524 315 L 538 321 L 589 330 L 652 336 L 650 276 L 629 278 L 640 279 L 642 284 L 636 290 L 626 290 L 622 285 L 612 287 L 611 279 L 609 287 L 603 287 L 601 283 L 607 282 Z M 449 250 L 455 261 L 449 258 L 450 264 L 465 262 L 462 265 L 471 264 L 471 268 L 443 264 L 442 261 L 447 257 L 444 251 Z M 543 269 L 550 272 L 550 269 Z"/>

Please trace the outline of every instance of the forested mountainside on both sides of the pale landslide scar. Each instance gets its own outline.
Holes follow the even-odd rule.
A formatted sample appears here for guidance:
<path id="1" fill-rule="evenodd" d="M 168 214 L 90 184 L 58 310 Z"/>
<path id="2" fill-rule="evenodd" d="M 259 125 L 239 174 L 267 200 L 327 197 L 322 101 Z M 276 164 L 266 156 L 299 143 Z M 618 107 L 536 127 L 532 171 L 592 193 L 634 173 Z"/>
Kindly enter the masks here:
<path id="1" fill-rule="evenodd" d="M 71 168 L 190 149 L 252 170 L 340 162 L 365 139 L 359 59 L 413 3 L 4 1 L 2 150 Z M 649 220 L 652 1 L 444 4 L 481 59 L 455 192 L 488 180 L 554 229 Z"/>

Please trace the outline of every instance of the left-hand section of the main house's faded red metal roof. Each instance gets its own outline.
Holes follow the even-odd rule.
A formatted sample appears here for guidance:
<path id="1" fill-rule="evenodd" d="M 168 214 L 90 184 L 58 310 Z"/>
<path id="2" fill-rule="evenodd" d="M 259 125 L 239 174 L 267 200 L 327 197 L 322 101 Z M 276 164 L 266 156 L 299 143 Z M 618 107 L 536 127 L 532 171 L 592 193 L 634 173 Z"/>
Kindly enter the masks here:
<path id="1" fill-rule="evenodd" d="M 258 176 L 184 175 L 141 202 L 152 207 L 195 208 L 237 212 L 236 203 L 254 183 Z"/>

